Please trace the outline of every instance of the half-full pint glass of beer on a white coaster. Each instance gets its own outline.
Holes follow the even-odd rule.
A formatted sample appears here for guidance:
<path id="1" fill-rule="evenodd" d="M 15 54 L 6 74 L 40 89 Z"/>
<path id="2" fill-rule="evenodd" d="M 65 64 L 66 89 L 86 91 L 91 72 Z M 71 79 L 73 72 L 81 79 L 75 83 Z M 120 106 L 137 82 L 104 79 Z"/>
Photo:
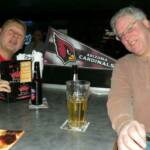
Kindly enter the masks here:
<path id="1" fill-rule="evenodd" d="M 70 128 L 82 128 L 87 123 L 89 89 L 89 81 L 70 80 L 66 82 L 68 125 Z"/>

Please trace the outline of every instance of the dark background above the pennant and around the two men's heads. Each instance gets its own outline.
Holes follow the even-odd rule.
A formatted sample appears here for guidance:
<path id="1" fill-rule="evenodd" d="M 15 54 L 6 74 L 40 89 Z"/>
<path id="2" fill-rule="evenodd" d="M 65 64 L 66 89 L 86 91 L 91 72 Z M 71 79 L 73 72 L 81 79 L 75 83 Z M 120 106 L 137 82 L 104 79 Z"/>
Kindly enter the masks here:
<path id="1" fill-rule="evenodd" d="M 110 36 L 109 21 L 118 9 L 129 5 L 142 8 L 148 16 L 150 14 L 149 0 L 3 0 L 0 23 L 14 17 L 32 21 L 28 29 L 38 26 L 45 35 L 48 26 L 67 29 L 72 38 L 113 58 L 120 58 L 127 51 Z"/>

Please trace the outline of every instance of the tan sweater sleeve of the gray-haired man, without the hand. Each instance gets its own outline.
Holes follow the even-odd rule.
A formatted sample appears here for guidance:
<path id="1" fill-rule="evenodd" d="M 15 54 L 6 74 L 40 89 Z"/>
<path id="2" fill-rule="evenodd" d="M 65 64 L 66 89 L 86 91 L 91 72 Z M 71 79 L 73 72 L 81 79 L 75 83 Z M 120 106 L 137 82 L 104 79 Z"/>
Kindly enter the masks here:
<path id="1" fill-rule="evenodd" d="M 108 96 L 107 110 L 112 127 L 118 133 L 123 124 L 133 120 L 130 70 L 125 61 L 115 64 L 111 90 Z"/>

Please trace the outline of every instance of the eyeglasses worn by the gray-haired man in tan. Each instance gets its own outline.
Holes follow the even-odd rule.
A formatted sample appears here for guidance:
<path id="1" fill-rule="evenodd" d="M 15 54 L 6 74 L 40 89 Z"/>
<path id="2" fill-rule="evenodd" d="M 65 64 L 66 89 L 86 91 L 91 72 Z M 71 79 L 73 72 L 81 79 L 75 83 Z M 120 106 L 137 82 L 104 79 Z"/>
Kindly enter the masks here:
<path id="1" fill-rule="evenodd" d="M 124 32 L 117 34 L 116 40 L 122 41 L 127 33 L 132 32 L 134 30 L 134 25 L 136 24 L 136 22 L 137 22 L 137 20 L 133 21 L 132 23 L 130 23 L 128 25 L 128 27 L 126 28 L 126 30 Z"/>

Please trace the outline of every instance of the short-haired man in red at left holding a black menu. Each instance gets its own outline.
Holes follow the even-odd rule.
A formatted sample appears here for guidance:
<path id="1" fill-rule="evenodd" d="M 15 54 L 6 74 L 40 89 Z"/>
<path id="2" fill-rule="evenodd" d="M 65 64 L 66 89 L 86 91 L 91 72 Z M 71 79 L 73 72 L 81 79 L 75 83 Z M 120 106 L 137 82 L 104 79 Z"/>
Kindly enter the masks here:
<path id="1" fill-rule="evenodd" d="M 27 27 L 19 19 L 9 19 L 0 28 L 0 62 L 11 60 L 22 48 Z M 11 92 L 9 82 L 0 80 L 0 91 Z"/>

